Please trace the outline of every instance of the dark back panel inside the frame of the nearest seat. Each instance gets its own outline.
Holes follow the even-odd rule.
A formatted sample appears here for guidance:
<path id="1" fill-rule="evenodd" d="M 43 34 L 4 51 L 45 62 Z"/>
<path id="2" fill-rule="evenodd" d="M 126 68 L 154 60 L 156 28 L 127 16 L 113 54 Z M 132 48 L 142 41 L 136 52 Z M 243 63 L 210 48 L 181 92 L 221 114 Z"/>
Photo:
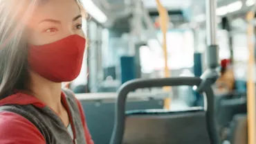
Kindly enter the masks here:
<path id="1" fill-rule="evenodd" d="M 125 125 L 125 144 L 210 143 L 203 108 L 187 111 L 128 111 Z"/>

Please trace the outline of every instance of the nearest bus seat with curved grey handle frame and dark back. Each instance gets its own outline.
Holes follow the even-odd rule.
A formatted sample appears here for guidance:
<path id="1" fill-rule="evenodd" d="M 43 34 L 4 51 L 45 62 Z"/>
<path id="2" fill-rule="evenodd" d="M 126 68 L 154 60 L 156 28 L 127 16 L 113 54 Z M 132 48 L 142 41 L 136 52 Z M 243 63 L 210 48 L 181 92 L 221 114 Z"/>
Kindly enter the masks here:
<path id="1" fill-rule="evenodd" d="M 125 109 L 127 94 L 135 89 L 200 84 L 201 78 L 194 77 L 138 79 L 123 84 L 118 92 L 111 144 L 219 144 L 210 84 L 203 89 L 204 107 L 184 111 Z"/>

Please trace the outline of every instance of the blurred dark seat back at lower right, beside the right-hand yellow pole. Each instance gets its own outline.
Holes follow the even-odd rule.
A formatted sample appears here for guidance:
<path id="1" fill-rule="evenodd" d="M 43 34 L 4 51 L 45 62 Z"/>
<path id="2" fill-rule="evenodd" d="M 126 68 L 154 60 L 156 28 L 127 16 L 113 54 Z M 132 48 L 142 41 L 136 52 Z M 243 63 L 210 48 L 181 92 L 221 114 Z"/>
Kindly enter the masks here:
<path id="1" fill-rule="evenodd" d="M 230 143 L 232 144 L 247 144 L 247 115 L 237 114 L 234 116 L 230 125 Z"/>

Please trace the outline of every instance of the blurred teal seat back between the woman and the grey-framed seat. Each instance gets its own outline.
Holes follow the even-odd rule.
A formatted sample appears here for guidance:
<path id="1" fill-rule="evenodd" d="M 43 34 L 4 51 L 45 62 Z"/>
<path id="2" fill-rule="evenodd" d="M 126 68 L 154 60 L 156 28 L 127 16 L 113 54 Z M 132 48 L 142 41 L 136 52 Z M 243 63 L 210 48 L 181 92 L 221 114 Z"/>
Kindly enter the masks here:
<path id="1" fill-rule="evenodd" d="M 95 144 L 109 144 L 114 125 L 114 107 L 116 98 L 104 98 L 98 100 L 80 100 L 86 116 L 86 123 L 90 129 Z M 129 99 L 129 98 L 128 98 Z M 161 109 L 161 98 L 149 98 L 149 100 L 127 100 L 126 109 Z"/>

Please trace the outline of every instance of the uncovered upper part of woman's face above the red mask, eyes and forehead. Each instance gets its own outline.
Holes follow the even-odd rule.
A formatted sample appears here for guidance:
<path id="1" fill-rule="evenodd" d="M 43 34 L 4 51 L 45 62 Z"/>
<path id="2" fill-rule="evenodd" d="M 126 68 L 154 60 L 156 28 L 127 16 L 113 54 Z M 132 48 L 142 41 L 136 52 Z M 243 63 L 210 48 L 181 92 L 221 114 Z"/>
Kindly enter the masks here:
<path id="1" fill-rule="evenodd" d="M 84 37 L 77 1 L 50 0 L 35 9 L 28 23 L 28 44 L 50 44 L 69 35 Z"/>

